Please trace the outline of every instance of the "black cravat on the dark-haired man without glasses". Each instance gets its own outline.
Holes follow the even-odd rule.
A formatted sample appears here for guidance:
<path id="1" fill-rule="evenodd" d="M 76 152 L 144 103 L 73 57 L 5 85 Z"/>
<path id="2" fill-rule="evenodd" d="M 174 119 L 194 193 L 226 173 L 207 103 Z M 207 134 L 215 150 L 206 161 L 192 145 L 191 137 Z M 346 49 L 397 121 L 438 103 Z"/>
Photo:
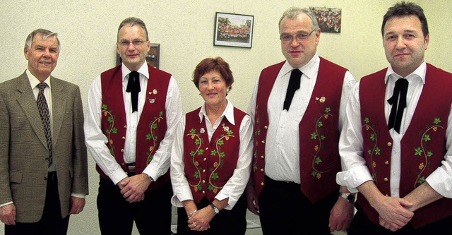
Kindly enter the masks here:
<path id="1" fill-rule="evenodd" d="M 388 100 L 388 103 L 393 106 L 391 108 L 391 114 L 389 114 L 388 129 L 391 130 L 394 128 L 394 131 L 397 131 L 397 133 L 400 133 L 400 123 L 402 123 L 403 109 L 407 107 L 407 90 L 408 80 L 405 78 L 399 78 L 396 81 L 393 96 Z"/>

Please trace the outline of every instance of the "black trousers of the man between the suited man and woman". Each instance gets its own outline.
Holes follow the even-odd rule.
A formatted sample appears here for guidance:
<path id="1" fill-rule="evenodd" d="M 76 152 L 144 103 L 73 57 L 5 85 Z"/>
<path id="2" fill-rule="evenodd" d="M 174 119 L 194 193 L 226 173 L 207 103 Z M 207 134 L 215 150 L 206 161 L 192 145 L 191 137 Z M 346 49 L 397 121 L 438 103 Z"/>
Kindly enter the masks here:
<path id="1" fill-rule="evenodd" d="M 171 234 L 171 183 L 145 193 L 145 199 L 129 203 L 119 187 L 100 177 L 97 210 L 102 235 L 132 233 L 133 222 L 140 234 Z"/>

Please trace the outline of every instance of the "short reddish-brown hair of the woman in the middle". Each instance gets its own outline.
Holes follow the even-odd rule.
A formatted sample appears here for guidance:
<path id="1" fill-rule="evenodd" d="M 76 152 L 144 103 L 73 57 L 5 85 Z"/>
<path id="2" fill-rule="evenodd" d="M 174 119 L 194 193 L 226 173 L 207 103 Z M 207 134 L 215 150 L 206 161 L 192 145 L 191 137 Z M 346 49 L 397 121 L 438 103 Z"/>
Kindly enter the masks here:
<path id="1" fill-rule="evenodd" d="M 225 80 L 227 87 L 232 89 L 232 83 L 234 83 L 234 76 L 232 76 L 232 71 L 229 68 L 229 64 L 222 59 L 220 56 L 216 58 L 206 58 L 203 59 L 196 66 L 193 72 L 193 83 L 199 90 L 199 78 L 210 71 L 217 71 L 221 74 L 222 78 Z"/>

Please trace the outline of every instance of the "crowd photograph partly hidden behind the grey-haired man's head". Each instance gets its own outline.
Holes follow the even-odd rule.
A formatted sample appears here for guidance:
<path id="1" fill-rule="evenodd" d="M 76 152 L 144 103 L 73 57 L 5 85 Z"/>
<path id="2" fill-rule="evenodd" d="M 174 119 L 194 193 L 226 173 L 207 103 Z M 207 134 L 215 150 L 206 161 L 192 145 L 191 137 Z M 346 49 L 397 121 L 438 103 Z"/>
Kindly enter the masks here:
<path id="1" fill-rule="evenodd" d="M 321 32 L 340 32 L 340 8 L 309 7 L 317 16 Z"/>

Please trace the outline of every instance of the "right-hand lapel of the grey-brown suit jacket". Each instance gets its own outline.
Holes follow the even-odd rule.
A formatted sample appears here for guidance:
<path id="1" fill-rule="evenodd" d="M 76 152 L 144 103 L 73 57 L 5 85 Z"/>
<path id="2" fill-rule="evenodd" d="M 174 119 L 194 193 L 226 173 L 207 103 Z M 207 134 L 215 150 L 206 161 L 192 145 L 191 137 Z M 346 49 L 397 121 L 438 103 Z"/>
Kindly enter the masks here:
<path id="1" fill-rule="evenodd" d="M 50 77 L 52 79 L 52 122 L 53 122 L 53 134 L 52 140 L 55 146 L 57 143 L 59 131 L 63 123 L 64 112 L 66 112 L 66 95 L 64 94 L 64 83 L 58 78 Z"/>

